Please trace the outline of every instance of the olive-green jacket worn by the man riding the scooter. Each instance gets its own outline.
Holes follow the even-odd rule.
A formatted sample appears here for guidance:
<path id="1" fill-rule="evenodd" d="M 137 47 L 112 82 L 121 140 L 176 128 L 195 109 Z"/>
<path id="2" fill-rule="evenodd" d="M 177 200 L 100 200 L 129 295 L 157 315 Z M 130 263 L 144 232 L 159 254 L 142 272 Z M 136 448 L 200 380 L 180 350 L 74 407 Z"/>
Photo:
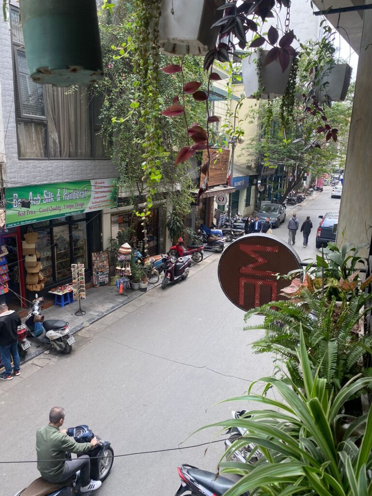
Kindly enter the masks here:
<path id="1" fill-rule="evenodd" d="M 90 442 L 76 442 L 72 437 L 63 434 L 57 427 L 51 425 L 41 427 L 36 433 L 38 470 L 44 479 L 54 482 L 64 473 L 64 461 L 57 460 L 65 458 L 66 451 L 81 455 L 93 447 Z M 56 461 L 42 462 L 40 460 Z"/>

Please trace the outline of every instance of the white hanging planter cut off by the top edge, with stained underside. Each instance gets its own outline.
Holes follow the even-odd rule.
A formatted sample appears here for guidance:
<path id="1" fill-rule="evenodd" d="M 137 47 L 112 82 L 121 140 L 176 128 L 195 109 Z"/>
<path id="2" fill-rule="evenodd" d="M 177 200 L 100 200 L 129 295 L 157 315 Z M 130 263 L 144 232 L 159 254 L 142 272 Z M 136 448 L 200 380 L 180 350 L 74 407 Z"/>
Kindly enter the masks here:
<path id="1" fill-rule="evenodd" d="M 163 0 L 159 19 L 160 49 L 169 55 L 205 55 L 214 48 L 225 0 Z"/>

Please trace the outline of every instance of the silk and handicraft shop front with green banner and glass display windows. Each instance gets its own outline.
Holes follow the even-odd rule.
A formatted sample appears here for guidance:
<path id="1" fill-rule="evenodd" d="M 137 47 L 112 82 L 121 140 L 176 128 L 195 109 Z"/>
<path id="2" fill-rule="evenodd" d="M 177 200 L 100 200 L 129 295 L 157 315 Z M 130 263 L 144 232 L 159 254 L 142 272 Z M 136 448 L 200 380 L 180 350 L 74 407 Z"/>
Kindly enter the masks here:
<path id="1" fill-rule="evenodd" d="M 91 253 L 102 249 L 101 212 L 117 204 L 113 179 L 5 188 L 5 198 L 1 241 L 8 252 L 9 280 L 4 301 L 25 307 L 26 300 L 34 299 L 30 257 L 40 264 L 45 282 L 38 293 L 43 296 L 71 281 L 72 263 L 83 263 L 90 281 Z M 30 231 L 35 233 L 34 244 L 25 241 Z"/>

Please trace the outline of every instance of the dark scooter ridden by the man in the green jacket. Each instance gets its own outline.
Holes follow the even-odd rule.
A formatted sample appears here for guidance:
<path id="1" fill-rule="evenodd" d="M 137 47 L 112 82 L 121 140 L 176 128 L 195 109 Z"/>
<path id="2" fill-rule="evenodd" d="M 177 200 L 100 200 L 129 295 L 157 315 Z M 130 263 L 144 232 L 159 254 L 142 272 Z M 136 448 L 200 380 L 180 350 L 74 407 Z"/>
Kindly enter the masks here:
<path id="1" fill-rule="evenodd" d="M 90 477 L 91 479 L 103 482 L 110 474 L 114 463 L 114 450 L 109 441 L 102 441 L 98 436 L 95 436 L 88 426 L 82 425 L 67 429 L 67 435 L 73 436 L 76 442 L 90 442 L 93 437 L 97 437 L 98 444 L 95 448 L 87 451 L 87 455 L 91 456 L 90 460 Z M 66 459 L 70 459 L 71 454 L 66 453 Z M 94 491 L 88 493 L 80 493 L 80 471 L 72 478 L 62 483 L 51 483 L 39 477 L 33 481 L 27 488 L 22 489 L 14 496 L 23 494 L 32 496 L 90 496 Z"/>

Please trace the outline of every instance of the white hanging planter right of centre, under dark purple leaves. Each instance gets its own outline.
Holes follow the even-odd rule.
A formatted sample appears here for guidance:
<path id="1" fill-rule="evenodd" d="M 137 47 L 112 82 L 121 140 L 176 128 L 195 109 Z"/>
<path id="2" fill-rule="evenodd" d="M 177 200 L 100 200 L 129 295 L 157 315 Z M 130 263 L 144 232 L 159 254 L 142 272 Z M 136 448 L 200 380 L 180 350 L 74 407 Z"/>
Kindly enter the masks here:
<path id="1" fill-rule="evenodd" d="M 267 50 L 258 50 L 242 61 L 243 83 L 247 98 L 254 98 L 254 93 L 258 91 L 257 62 L 255 62 L 258 54 L 260 55 L 261 86 L 263 88 L 260 98 L 275 98 L 285 93 L 291 72 L 292 57 L 291 62 L 283 72 L 278 60 L 263 67 L 267 53 Z"/>

